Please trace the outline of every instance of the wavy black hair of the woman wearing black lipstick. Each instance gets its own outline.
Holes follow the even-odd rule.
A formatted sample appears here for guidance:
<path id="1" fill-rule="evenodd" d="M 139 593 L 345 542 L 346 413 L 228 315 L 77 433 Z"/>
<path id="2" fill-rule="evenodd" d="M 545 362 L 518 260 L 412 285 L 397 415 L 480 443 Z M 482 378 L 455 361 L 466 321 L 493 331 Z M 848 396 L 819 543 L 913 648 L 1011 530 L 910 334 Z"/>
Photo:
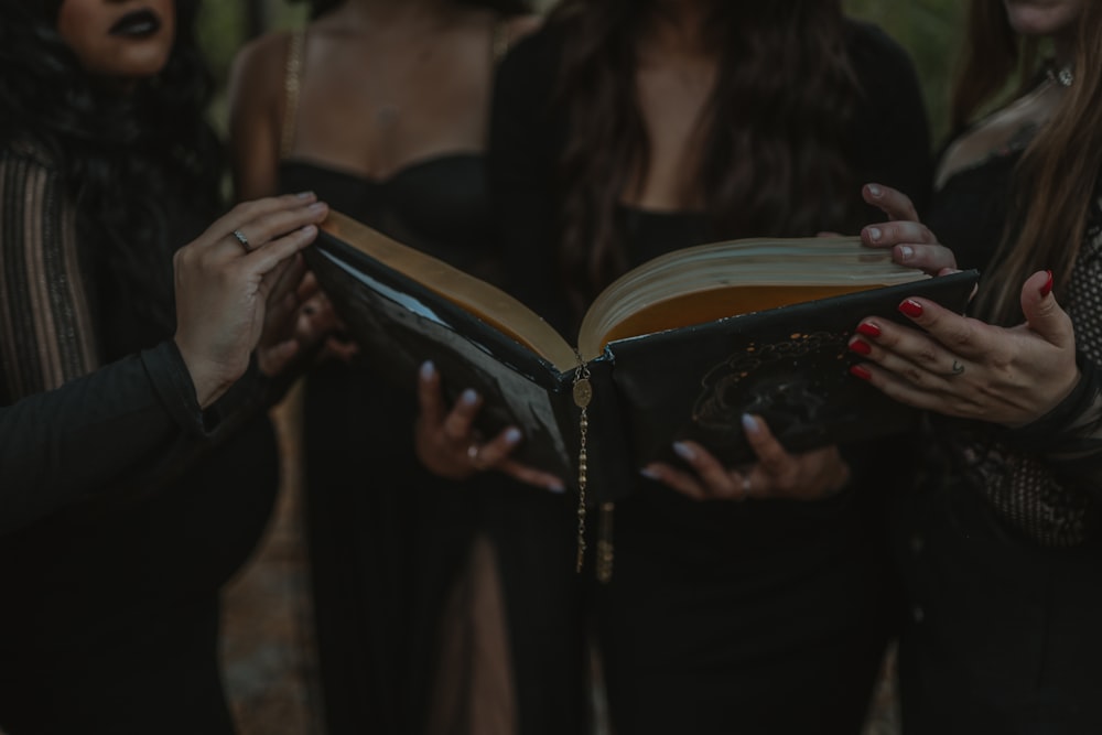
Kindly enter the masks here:
<path id="1" fill-rule="evenodd" d="M 129 291 L 136 313 L 173 323 L 169 248 L 177 205 L 220 206 L 222 144 L 206 118 L 215 89 L 195 42 L 198 0 L 175 0 L 164 69 L 127 95 L 105 87 L 57 32 L 62 0 L 0 0 L 0 142 L 46 152 L 77 205 L 97 262 Z M 188 236 L 193 235 L 188 233 Z"/>

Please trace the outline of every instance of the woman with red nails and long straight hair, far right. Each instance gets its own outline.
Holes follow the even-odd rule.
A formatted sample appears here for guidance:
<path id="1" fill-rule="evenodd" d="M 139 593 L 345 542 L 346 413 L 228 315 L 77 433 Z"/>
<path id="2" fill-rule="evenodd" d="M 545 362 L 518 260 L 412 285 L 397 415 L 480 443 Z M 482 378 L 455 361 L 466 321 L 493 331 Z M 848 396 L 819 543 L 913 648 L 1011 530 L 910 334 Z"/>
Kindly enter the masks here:
<path id="1" fill-rule="evenodd" d="M 852 343 L 857 377 L 929 411 L 896 525 L 904 726 L 1095 732 L 1102 6 L 976 0 L 964 48 L 926 226 L 884 187 L 901 221 L 865 237 L 940 240 L 984 271 L 980 291 L 969 316 L 907 300 L 921 331 L 866 318 Z"/>

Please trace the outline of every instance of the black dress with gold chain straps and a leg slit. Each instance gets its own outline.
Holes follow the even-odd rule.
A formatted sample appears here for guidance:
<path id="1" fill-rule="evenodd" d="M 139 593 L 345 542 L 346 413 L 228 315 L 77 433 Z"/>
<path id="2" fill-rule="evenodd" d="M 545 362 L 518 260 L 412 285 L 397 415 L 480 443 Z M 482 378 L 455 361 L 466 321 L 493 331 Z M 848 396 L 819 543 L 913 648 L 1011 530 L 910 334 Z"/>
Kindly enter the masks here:
<path id="1" fill-rule="evenodd" d="M 383 181 L 288 159 L 280 186 L 314 191 L 399 241 L 499 278 L 482 154 L 423 160 Z M 305 506 L 328 732 L 423 727 L 440 613 L 478 531 L 498 550 L 521 732 L 577 732 L 580 678 L 562 671 L 581 667 L 581 638 L 565 640 L 571 621 L 548 593 L 577 584 L 569 500 L 495 474 L 465 483 L 430 475 L 413 453 L 417 375 L 396 390 L 371 359 L 320 366 L 305 383 Z"/>

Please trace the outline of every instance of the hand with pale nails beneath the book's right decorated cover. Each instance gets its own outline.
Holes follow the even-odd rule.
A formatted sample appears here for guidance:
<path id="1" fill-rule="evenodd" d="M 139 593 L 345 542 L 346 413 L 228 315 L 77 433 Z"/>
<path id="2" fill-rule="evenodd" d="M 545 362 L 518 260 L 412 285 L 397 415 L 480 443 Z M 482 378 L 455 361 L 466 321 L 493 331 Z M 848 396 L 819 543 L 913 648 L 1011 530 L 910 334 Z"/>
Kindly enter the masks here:
<path id="1" fill-rule="evenodd" d="M 726 467 L 703 446 L 687 441 L 673 448 L 693 472 L 656 462 L 644 467 L 642 474 L 694 500 L 817 500 L 834 495 L 850 482 L 850 466 L 836 446 L 790 454 L 760 417 L 743 417 L 743 429 L 758 457 L 756 464 Z"/>

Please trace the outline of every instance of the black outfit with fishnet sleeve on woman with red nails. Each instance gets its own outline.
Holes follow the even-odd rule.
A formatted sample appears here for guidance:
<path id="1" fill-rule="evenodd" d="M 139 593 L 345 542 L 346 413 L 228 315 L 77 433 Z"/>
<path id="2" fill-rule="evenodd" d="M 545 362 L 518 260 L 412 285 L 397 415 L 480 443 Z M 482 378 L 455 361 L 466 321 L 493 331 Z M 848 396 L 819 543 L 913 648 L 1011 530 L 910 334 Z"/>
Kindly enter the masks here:
<path id="1" fill-rule="evenodd" d="M 950 177 L 927 225 L 962 268 L 988 270 L 1027 140 Z M 930 417 L 927 472 L 900 496 L 906 582 L 900 694 L 908 735 L 1102 731 L 1102 201 L 1061 303 L 1083 378 L 1013 431 Z M 1019 284 L 992 284 L 981 288 Z"/>

